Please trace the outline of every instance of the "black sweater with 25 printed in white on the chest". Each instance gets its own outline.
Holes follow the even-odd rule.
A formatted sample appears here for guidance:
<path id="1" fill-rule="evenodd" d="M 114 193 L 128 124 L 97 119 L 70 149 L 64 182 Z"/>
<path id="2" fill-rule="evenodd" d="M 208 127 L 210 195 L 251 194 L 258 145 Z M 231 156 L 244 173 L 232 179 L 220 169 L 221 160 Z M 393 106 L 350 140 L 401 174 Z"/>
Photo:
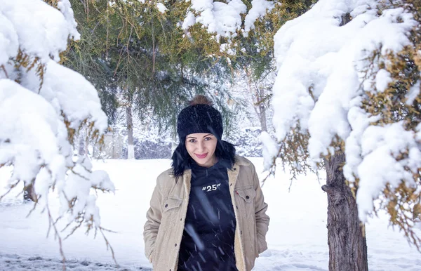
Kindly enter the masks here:
<path id="1" fill-rule="evenodd" d="M 236 271 L 236 220 L 229 194 L 227 166 L 192 164 L 192 188 L 182 235 L 178 270 Z"/>

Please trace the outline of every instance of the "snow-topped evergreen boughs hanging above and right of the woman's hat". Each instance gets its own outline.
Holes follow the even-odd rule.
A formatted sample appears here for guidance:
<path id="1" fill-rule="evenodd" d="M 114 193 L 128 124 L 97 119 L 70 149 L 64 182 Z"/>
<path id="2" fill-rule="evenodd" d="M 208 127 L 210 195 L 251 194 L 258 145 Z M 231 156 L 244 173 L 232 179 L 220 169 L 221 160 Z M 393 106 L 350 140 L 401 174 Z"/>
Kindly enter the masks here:
<path id="1" fill-rule="evenodd" d="M 206 54 L 227 60 L 232 84 L 245 88 L 246 97 L 234 98 L 250 105 L 267 131 L 267 108 L 274 80 L 276 31 L 298 17 L 315 1 L 191 1 L 182 28 Z M 210 8 L 213 7 L 213 8 Z"/>

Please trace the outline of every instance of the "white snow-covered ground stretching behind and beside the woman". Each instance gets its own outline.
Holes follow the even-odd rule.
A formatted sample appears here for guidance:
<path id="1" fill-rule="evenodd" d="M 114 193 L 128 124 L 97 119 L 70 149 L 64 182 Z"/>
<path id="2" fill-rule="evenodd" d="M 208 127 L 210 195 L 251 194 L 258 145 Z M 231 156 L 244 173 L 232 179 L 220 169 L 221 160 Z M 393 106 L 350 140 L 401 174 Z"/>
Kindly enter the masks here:
<path id="1" fill-rule="evenodd" d="M 262 159 L 251 159 L 258 172 Z M 116 194 L 99 194 L 103 227 L 112 244 L 119 270 L 151 270 L 144 256 L 142 230 L 156 176 L 168 168 L 170 160 L 94 161 L 94 169 L 104 169 L 116 185 Z M 8 169 L 0 169 L 0 193 L 4 192 Z M 279 173 L 263 186 L 267 211 L 271 218 L 268 251 L 256 261 L 254 270 L 328 270 L 326 229 L 327 198 L 316 176 L 300 176 L 291 186 L 289 176 Z M 17 191 L 16 191 L 17 192 Z M 9 195 L 0 203 L 0 270 L 61 270 L 58 242 L 53 234 L 46 238 L 48 220 L 35 210 L 27 218 L 32 204 L 22 204 L 22 196 Z M 49 199 L 53 213 L 58 199 Z M 59 228 L 65 225 L 59 223 Z M 421 270 L 421 255 L 408 245 L 400 232 L 387 226 L 383 216 L 367 225 L 368 264 L 370 270 Z M 62 232 L 65 237 L 68 230 Z M 420 232 L 421 234 L 421 232 Z M 86 236 L 78 230 L 63 243 L 67 270 L 116 270 L 105 242 L 93 232 Z"/>

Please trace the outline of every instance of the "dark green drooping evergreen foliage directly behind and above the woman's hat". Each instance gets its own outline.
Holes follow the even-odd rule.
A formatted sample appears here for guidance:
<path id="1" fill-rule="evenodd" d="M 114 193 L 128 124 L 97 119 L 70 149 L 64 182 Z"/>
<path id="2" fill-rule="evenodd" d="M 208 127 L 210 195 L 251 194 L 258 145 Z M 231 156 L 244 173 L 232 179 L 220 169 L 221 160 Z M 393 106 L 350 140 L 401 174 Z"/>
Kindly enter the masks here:
<path id="1" fill-rule="evenodd" d="M 72 4 L 81 41 L 72 44 L 65 65 L 97 86 L 110 121 L 117 107 L 126 107 L 129 140 L 131 112 L 140 120 L 152 114 L 175 133 L 178 112 L 196 93 L 208 93 L 229 116 L 229 96 L 220 84 L 229 76 L 226 66 L 185 37 L 178 26 L 184 2 L 168 1 L 165 11 L 154 1 Z"/>

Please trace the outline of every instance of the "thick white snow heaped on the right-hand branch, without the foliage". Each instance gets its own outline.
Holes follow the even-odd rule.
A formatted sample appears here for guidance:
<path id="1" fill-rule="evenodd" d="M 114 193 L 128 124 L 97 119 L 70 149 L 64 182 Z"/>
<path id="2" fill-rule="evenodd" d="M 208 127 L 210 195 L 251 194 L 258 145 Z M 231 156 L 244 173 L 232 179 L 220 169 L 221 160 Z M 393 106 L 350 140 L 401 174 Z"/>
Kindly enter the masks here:
<path id="1" fill-rule="evenodd" d="M 367 93 L 385 91 L 392 81 L 389 72 L 371 65 L 370 54 L 378 51 L 386 59 L 389 53 L 399 53 L 410 46 L 408 37 L 417 25 L 403 8 L 382 4 L 320 0 L 286 22 L 274 37 L 278 75 L 272 103 L 277 140 L 296 128 L 308 133 L 314 161 L 335 152 L 331 143 L 337 137 L 345 142 L 343 170 L 350 182 L 359 179 L 356 201 L 363 222 L 387 183 L 397 187 L 403 180 L 413 187 L 413 174 L 421 168 L 416 138 L 420 132 L 408 130 L 403 121 L 372 126 L 380 115 L 362 108 Z M 412 97 L 420 93 L 419 84 L 414 92 Z M 407 151 L 408 157 L 398 159 Z"/>

